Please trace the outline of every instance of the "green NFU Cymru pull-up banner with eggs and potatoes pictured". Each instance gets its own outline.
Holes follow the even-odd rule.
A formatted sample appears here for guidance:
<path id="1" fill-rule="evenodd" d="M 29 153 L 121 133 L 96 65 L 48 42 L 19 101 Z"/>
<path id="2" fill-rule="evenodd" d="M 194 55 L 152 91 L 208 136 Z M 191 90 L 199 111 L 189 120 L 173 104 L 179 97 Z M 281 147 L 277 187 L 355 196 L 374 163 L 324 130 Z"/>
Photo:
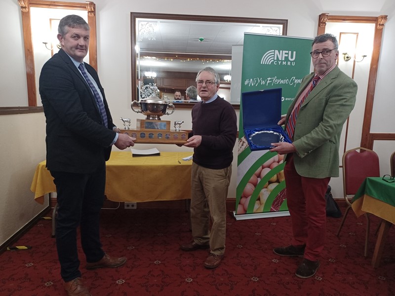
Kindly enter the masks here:
<path id="1" fill-rule="evenodd" d="M 281 114 L 285 114 L 302 78 L 310 72 L 311 48 L 311 38 L 245 33 L 241 93 L 281 88 L 279 101 Z M 257 106 L 262 118 L 275 110 L 264 100 L 262 97 L 262 104 Z M 243 132 L 242 112 L 241 102 L 235 218 L 287 216 L 283 155 L 269 150 L 250 150 Z"/>

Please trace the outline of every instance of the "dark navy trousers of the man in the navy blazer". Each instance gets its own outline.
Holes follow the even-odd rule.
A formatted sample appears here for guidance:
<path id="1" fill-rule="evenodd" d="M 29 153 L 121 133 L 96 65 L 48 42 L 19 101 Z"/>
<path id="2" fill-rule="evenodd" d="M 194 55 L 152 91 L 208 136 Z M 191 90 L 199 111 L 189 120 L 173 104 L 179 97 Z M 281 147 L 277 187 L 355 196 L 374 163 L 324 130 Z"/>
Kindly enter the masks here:
<path id="1" fill-rule="evenodd" d="M 51 171 L 57 192 L 56 247 L 60 274 L 65 282 L 81 276 L 77 249 L 77 228 L 87 262 L 103 258 L 100 243 L 100 209 L 104 202 L 106 166 L 93 174 Z"/>

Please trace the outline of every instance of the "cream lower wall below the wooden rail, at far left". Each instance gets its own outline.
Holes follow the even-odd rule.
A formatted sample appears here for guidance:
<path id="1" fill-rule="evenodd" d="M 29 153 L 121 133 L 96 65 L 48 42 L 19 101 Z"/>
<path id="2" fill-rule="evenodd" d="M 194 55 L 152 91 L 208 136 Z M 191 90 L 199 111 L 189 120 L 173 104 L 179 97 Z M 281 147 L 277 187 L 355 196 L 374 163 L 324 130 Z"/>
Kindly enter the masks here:
<path id="1" fill-rule="evenodd" d="M 0 116 L 0 244 L 48 205 L 30 191 L 37 164 L 45 159 L 43 113 Z M 48 234 L 49 235 L 49 234 Z"/>

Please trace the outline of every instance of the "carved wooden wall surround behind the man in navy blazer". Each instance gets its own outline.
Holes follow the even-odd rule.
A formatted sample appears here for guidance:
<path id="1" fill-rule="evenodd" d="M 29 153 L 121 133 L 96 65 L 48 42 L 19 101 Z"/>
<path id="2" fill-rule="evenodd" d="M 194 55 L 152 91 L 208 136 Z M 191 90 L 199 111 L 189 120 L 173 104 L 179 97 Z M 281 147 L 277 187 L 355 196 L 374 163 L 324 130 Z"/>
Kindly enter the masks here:
<path id="1" fill-rule="evenodd" d="M 97 47 L 96 47 L 96 6 L 91 1 L 85 3 L 60 2 L 45 0 L 18 0 L 21 6 L 23 40 L 25 46 L 26 79 L 28 87 L 29 107 L 37 106 L 36 71 L 34 64 L 33 40 L 30 22 L 30 7 L 59 8 L 86 10 L 88 12 L 88 24 L 90 27 L 89 38 L 89 64 L 97 71 Z"/>

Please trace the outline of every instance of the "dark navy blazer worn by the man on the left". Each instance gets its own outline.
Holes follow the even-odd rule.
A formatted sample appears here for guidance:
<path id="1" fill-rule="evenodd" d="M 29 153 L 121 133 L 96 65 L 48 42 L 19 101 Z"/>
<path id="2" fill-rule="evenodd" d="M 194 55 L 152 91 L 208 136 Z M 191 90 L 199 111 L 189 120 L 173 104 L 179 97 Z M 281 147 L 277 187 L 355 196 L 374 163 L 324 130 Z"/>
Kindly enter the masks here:
<path id="1" fill-rule="evenodd" d="M 42 67 L 40 96 L 46 117 L 46 164 L 51 171 L 89 174 L 109 159 L 116 133 L 96 71 L 85 63 L 104 98 L 108 128 L 89 85 L 61 49 Z"/>

